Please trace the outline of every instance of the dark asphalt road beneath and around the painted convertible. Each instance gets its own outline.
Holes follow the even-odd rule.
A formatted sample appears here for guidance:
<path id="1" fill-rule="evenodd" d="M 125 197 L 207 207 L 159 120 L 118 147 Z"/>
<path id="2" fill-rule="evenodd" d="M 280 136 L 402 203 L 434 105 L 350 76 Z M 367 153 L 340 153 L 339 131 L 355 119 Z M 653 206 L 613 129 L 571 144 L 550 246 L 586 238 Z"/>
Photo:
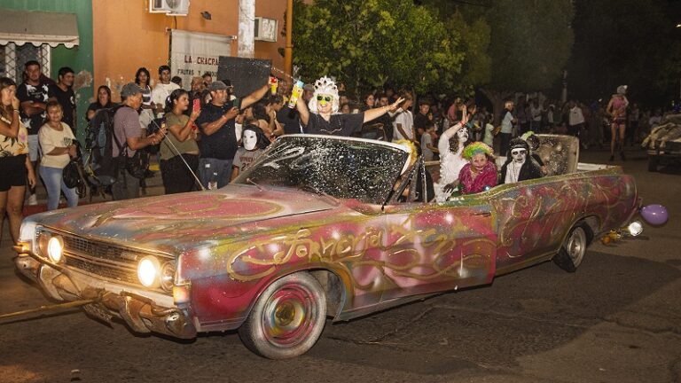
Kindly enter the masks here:
<path id="1" fill-rule="evenodd" d="M 607 152 L 583 160 L 605 162 Z M 648 173 L 644 152 L 617 163 L 670 222 L 646 226 L 646 238 L 593 244 L 575 274 L 546 262 L 329 322 L 308 354 L 287 361 L 254 356 L 235 332 L 179 342 L 74 309 L 0 324 L 0 382 L 679 382 L 681 167 Z M 53 303 L 16 275 L 12 256 L 5 239 L 0 313 Z"/>

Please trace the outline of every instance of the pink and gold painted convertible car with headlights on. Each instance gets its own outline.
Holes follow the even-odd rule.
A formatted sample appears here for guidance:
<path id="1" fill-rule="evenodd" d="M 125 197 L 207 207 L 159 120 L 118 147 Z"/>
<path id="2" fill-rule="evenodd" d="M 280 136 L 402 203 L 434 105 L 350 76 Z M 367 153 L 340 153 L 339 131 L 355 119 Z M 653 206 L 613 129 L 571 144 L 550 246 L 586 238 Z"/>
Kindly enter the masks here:
<path id="1" fill-rule="evenodd" d="M 92 300 L 91 317 L 134 332 L 239 329 L 261 356 L 299 356 L 327 316 L 549 260 L 574 271 L 593 238 L 631 222 L 631 176 L 578 164 L 575 138 L 543 139 L 549 176 L 435 203 L 415 201 L 428 167 L 401 145 L 281 137 L 216 191 L 28 216 L 16 264 L 52 298 Z"/>

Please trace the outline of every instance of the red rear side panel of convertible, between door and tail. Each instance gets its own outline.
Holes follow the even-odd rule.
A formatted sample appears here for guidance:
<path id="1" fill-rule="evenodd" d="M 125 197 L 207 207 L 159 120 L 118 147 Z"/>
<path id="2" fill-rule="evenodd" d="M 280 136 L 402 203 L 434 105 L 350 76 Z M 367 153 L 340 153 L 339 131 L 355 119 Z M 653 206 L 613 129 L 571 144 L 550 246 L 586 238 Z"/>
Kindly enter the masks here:
<path id="1" fill-rule="evenodd" d="M 636 186 L 631 176 L 612 173 L 556 176 L 497 191 L 489 199 L 498 217 L 497 273 L 550 259 L 584 217 L 596 218 L 599 232 L 625 224 L 636 208 Z"/>

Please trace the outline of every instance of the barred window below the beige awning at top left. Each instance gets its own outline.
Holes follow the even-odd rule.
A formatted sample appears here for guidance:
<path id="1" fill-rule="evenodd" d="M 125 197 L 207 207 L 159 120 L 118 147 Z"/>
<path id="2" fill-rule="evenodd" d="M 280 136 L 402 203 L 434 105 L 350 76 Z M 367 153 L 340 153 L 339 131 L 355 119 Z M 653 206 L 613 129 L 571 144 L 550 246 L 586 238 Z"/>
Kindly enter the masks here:
<path id="1" fill-rule="evenodd" d="M 50 45 L 35 46 L 32 43 L 0 45 L 0 76 L 9 77 L 17 84 L 24 82 L 24 64 L 35 60 L 40 63 L 43 74 L 50 77 Z"/>

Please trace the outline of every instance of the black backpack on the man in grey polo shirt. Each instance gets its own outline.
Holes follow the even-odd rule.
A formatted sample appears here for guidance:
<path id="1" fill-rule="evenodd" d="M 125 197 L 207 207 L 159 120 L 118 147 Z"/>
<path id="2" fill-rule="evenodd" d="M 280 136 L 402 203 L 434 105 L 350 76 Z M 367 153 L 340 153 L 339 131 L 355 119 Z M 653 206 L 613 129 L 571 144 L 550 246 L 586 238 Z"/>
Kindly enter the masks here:
<path id="1" fill-rule="evenodd" d="M 124 105 L 99 109 L 85 132 L 85 172 L 90 182 L 108 186 L 116 182 L 118 159 L 114 158 L 114 114 Z"/>

